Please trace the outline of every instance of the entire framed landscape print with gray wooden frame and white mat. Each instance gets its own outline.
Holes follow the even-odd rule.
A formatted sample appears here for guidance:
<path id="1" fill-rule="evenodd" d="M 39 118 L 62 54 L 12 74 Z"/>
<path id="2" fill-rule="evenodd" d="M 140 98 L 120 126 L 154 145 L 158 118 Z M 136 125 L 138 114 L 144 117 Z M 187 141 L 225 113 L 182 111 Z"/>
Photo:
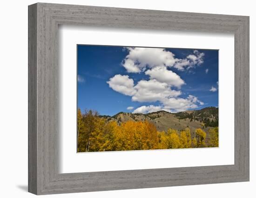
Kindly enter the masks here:
<path id="1" fill-rule="evenodd" d="M 249 17 L 29 6 L 28 189 L 249 181 Z"/>

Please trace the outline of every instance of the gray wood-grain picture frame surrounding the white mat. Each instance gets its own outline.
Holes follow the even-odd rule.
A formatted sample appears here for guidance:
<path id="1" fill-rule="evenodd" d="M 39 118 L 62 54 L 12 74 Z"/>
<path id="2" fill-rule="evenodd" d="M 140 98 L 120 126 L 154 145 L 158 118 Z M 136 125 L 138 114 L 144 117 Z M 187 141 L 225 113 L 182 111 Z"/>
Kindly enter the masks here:
<path id="1" fill-rule="evenodd" d="M 235 164 L 58 172 L 58 25 L 235 35 Z M 75 65 L 74 65 L 75 66 Z M 37 3 L 28 6 L 28 191 L 90 192 L 249 181 L 249 17 Z"/>

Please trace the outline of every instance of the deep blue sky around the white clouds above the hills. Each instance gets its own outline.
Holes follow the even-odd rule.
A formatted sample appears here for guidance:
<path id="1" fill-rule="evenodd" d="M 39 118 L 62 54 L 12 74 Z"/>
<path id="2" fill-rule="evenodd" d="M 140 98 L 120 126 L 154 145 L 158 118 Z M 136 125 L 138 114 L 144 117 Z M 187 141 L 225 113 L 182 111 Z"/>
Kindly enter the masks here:
<path id="1" fill-rule="evenodd" d="M 165 48 L 171 51 L 176 58 L 186 58 L 193 54 L 196 49 L 173 49 Z M 182 85 L 182 95 L 180 98 L 186 98 L 189 95 L 196 96 L 198 100 L 204 102 L 204 105 L 198 105 L 196 109 L 202 109 L 209 106 L 218 106 L 218 51 L 200 50 L 204 53 L 203 63 L 195 65 L 189 70 L 177 70 L 169 67 L 178 74 L 184 81 Z M 77 106 L 82 111 L 84 109 L 97 110 L 101 115 L 115 115 L 118 112 L 132 112 L 127 107 L 134 109 L 142 105 L 160 105 L 160 102 L 133 102 L 131 96 L 125 96 L 113 89 L 107 83 L 111 77 L 116 74 L 128 75 L 134 80 L 136 85 L 138 81 L 149 80 L 149 76 L 141 73 L 128 73 L 121 65 L 122 61 L 128 55 L 128 51 L 119 46 L 98 46 L 98 45 L 77 45 L 77 73 L 79 81 L 77 83 Z M 208 73 L 206 73 L 208 69 Z M 211 92 L 209 89 L 215 87 L 217 91 Z M 172 89 L 178 90 L 172 87 Z"/>

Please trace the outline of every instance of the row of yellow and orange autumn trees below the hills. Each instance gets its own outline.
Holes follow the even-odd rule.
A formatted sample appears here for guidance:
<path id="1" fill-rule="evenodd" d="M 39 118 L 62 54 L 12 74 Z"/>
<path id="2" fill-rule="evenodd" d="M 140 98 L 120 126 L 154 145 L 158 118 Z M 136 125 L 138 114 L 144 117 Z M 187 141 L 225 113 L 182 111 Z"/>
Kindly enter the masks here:
<path id="1" fill-rule="evenodd" d="M 80 109 L 77 112 L 77 152 L 206 147 L 206 133 L 197 128 L 195 134 L 192 139 L 189 128 L 160 132 L 149 121 L 118 124 L 91 110 L 84 114 Z M 209 146 L 218 146 L 218 128 L 209 130 Z"/>

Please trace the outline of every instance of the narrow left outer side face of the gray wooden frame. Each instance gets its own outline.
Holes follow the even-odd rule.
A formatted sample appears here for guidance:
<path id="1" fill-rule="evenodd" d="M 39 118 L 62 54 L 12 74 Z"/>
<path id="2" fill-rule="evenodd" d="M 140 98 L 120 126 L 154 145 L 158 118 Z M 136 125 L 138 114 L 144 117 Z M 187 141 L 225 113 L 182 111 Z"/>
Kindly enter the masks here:
<path id="1" fill-rule="evenodd" d="M 37 193 L 37 6 L 28 10 L 28 191 Z"/>

